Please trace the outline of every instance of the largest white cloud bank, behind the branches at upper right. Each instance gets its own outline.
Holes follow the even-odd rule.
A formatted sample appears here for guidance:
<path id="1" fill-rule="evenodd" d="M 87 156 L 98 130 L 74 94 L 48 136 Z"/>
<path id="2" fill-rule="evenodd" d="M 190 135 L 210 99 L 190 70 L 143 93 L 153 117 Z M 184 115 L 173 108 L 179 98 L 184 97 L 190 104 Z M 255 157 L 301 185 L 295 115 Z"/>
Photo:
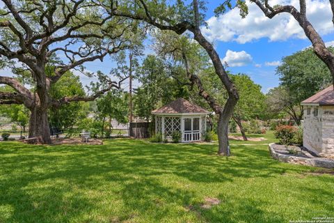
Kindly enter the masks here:
<path id="1" fill-rule="evenodd" d="M 329 1 L 306 0 L 307 16 L 315 29 L 321 35 L 334 31 L 331 22 L 331 6 Z M 272 0 L 271 5 L 292 4 L 299 8 L 299 0 Z M 306 38 L 298 22 L 288 13 L 280 13 L 273 19 L 264 16 L 260 8 L 254 3 L 248 3 L 249 13 L 241 19 L 239 9 L 234 8 L 220 17 L 211 17 L 207 20 L 207 28 L 202 27 L 202 33 L 211 41 L 237 41 L 247 43 L 260 38 L 269 38 L 271 41 L 287 40 L 288 38 Z"/>

